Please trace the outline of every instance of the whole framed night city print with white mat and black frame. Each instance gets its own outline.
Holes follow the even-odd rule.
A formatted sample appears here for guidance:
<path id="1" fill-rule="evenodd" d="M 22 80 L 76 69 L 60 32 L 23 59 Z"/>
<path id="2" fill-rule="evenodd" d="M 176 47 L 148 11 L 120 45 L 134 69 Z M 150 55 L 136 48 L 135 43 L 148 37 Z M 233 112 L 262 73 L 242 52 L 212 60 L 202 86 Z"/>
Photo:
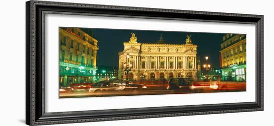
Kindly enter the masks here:
<path id="1" fill-rule="evenodd" d="M 263 111 L 263 35 L 263 15 L 27 1 L 26 124 Z"/>

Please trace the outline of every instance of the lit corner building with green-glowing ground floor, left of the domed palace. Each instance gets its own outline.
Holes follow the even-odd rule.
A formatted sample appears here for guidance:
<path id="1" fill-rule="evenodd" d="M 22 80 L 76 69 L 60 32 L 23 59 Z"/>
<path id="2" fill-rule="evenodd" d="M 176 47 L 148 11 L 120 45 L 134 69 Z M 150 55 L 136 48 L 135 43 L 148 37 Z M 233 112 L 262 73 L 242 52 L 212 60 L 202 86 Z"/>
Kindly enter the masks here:
<path id="1" fill-rule="evenodd" d="M 96 74 L 98 41 L 79 28 L 59 28 L 59 83 L 91 82 Z"/>

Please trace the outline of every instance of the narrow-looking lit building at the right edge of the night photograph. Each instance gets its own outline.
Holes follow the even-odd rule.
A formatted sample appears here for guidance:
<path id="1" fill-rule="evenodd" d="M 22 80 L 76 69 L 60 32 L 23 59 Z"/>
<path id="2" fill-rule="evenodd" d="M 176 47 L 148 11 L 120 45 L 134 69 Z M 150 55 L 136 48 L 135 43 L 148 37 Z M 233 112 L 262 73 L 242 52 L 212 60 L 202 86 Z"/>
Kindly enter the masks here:
<path id="1" fill-rule="evenodd" d="M 226 34 L 221 43 L 220 65 L 223 80 L 246 80 L 246 35 Z"/>

